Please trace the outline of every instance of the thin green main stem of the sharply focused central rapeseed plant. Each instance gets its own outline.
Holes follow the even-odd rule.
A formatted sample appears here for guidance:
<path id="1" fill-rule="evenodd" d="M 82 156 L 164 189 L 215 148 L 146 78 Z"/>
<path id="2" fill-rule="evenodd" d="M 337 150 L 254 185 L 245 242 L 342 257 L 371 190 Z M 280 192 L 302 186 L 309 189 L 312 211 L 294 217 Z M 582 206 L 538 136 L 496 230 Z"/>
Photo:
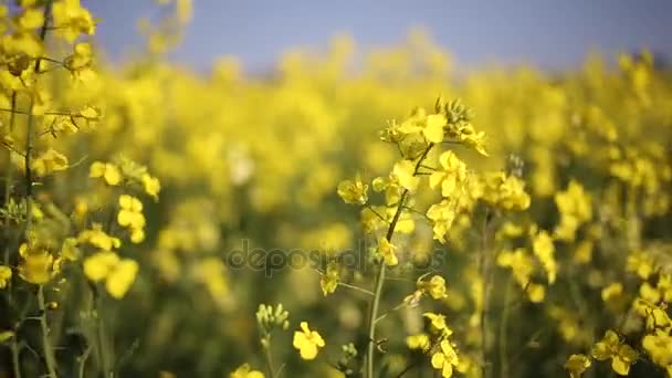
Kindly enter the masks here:
<path id="1" fill-rule="evenodd" d="M 420 156 L 420 158 L 418 159 L 418 162 L 416 162 L 416 169 L 413 170 L 413 176 L 416 176 L 416 174 L 418 174 L 418 169 L 420 168 L 420 165 L 422 165 L 422 161 L 424 161 L 424 159 L 427 158 L 427 155 L 429 154 L 429 151 L 432 149 L 432 147 L 434 146 L 434 144 L 429 144 L 427 146 L 427 148 L 424 149 L 424 151 L 422 153 L 422 156 Z M 388 242 L 392 241 L 392 237 L 395 234 L 395 229 L 397 228 L 397 222 L 399 221 L 399 218 L 401 217 L 401 212 L 403 211 L 403 202 L 406 201 L 406 198 L 409 195 L 409 190 L 408 189 L 403 189 L 403 191 L 401 192 L 401 197 L 399 198 L 399 202 L 397 203 L 397 210 L 395 211 L 395 216 L 392 217 L 392 221 L 390 222 L 390 225 L 387 229 L 387 234 L 385 235 L 385 239 L 387 239 Z M 375 281 L 375 290 L 374 290 L 374 302 L 371 303 L 371 312 L 369 313 L 369 324 L 368 324 L 368 334 L 369 334 L 369 339 L 368 339 L 368 348 L 367 348 L 367 355 L 366 355 L 366 371 L 367 378 L 374 378 L 374 355 L 376 353 L 376 321 L 378 318 L 378 307 L 380 305 L 380 296 L 382 294 L 382 284 L 385 283 L 385 270 L 386 270 L 386 264 L 381 263 L 380 264 L 380 269 L 378 270 L 378 274 L 376 276 L 376 281 Z"/>

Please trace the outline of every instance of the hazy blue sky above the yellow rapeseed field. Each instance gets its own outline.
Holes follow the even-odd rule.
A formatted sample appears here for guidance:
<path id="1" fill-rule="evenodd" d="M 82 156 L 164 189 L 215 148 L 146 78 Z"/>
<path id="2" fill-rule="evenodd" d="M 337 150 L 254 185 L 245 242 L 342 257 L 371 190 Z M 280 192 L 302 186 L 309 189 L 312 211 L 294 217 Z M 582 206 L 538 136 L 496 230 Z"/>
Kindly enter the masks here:
<path id="1" fill-rule="evenodd" d="M 348 33 L 358 48 L 391 45 L 421 27 L 461 67 L 532 63 L 570 69 L 590 51 L 643 46 L 672 55 L 672 0 L 193 0 L 193 21 L 176 61 L 206 69 L 233 54 L 251 71 L 273 66 L 292 46 L 325 46 Z M 82 0 L 101 18 L 97 36 L 123 59 L 139 43 L 136 21 L 151 0 Z"/>

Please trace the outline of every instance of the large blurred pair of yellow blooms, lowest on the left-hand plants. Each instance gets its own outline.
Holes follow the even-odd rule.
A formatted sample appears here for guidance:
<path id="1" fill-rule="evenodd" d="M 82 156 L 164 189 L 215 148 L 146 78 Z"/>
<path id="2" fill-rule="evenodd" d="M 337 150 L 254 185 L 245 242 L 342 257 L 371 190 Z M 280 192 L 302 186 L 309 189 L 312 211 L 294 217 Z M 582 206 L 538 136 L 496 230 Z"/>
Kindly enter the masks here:
<path id="1" fill-rule="evenodd" d="M 105 288 L 114 298 L 126 295 L 138 273 L 138 263 L 120 259 L 111 251 L 101 251 L 84 260 L 84 274 L 93 282 L 105 280 Z"/>

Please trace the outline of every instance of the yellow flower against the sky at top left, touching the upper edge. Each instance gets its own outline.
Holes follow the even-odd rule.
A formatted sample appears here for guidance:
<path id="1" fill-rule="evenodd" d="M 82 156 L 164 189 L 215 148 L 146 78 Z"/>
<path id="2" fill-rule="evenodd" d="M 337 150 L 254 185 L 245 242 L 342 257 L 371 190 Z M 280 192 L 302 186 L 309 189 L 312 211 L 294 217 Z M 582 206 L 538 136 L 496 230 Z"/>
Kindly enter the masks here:
<path id="1" fill-rule="evenodd" d="M 95 33 L 93 18 L 88 10 L 82 8 L 80 0 L 54 1 L 52 13 L 56 33 L 67 42 L 74 42 L 80 34 Z"/>

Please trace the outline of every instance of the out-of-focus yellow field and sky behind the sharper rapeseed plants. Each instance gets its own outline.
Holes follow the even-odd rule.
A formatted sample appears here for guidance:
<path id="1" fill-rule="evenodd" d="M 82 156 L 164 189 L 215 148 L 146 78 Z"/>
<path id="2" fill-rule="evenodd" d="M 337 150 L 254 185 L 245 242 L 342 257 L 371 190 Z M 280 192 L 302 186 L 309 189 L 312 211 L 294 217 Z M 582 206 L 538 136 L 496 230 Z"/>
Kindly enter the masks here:
<path id="1" fill-rule="evenodd" d="M 455 369 L 466 377 L 483 377 L 484 349 L 492 376 L 566 376 L 568 356 L 590 356 L 607 329 L 622 336 L 617 343 L 637 348 L 632 376 L 672 375 L 672 347 L 642 346 L 654 330 L 672 329 L 652 329 L 659 319 L 648 315 L 655 309 L 669 317 L 665 303 L 672 301 L 672 1 L 81 2 L 98 20 L 95 35 L 75 30 L 78 40 L 64 40 L 56 38 L 64 30 L 54 28 L 46 40 L 53 42 L 50 64 L 74 56 L 81 66 L 38 73 L 44 93 L 27 91 L 9 71 L 0 75 L 0 125 L 15 126 L 0 133 L 15 146 L 32 140 L 23 133 L 32 118 L 14 117 L 34 108 L 29 95 L 40 95 L 41 111 L 59 111 L 35 126 L 31 148 L 48 162 L 54 151 L 62 154 L 55 155 L 57 174 L 35 185 L 35 207 L 44 214 L 34 228 L 49 242 L 44 253 L 63 254 L 72 243 L 80 249 L 65 263 L 66 280 L 57 275 L 44 286 L 56 304 L 49 321 L 62 376 L 78 369 L 86 377 L 228 377 L 243 364 L 269 371 L 255 317 L 261 303 L 282 303 L 290 313 L 288 328 L 274 330 L 271 348 L 283 378 L 343 377 L 334 367 L 349 343 L 359 350 L 347 361 L 357 370 L 369 340 L 370 261 L 363 258 L 366 269 L 335 269 L 340 283 L 364 291 L 337 285 L 326 293 L 326 263 L 283 265 L 269 274 L 233 266 L 229 258 L 245 248 L 316 251 L 333 261 L 344 251 L 370 256 L 375 249 L 367 248 L 386 224 L 344 203 L 337 188 L 359 175 L 370 203 L 391 217 L 396 204 L 375 192 L 372 180 L 393 182 L 392 167 L 408 164 L 427 140 L 409 132 L 399 146 L 381 141 L 380 132 L 411 114 L 427 122 L 418 107 L 427 114 L 450 108 L 460 122 L 473 116 L 475 132 L 464 134 L 484 141 L 490 155 L 447 140 L 423 169 L 440 169 L 439 156 L 450 150 L 474 174 L 472 182 L 487 181 L 505 200 L 507 193 L 528 195 L 531 204 L 523 212 L 490 212 L 475 195 L 456 213 L 442 211 L 455 218 L 449 241 L 440 243 L 434 225 L 450 222 L 430 221 L 427 211 L 450 204 L 453 193 L 442 197 L 422 179 L 413 209 L 401 218 L 406 233 L 395 234 L 400 262 L 381 300 L 390 311 L 378 326 L 387 350 L 377 355 L 381 376 L 401 375 L 408 366 L 407 378 L 437 376 L 429 356 L 406 342 L 427 330 L 428 311 L 449 319 Z M 33 33 L 44 24 L 35 9 L 9 9 L 4 36 L 24 36 L 15 17 L 28 19 Z M 12 46 L 15 39 L 6 42 Z M 73 41 L 90 41 L 93 53 L 86 45 L 73 50 Z M 25 63 L 20 69 L 32 62 L 19 56 Z M 439 96 L 461 103 L 435 106 Z M 86 124 L 70 125 L 72 114 Z M 59 123 L 56 130 L 55 119 L 70 127 Z M 21 177 L 30 159 L 13 149 L 0 159 L 11 172 L 2 172 L 8 203 L 21 203 L 23 191 L 11 190 L 12 177 Z M 108 180 L 107 170 L 119 177 Z M 391 188 L 392 195 L 399 189 Z M 138 230 L 118 221 L 122 193 L 143 204 L 143 238 L 132 239 L 129 231 Z M 460 200 L 471 187 L 462 193 Z M 25 260 L 19 254 L 23 224 L 13 224 L 3 239 L 12 243 L 8 265 Z M 99 224 L 119 245 L 87 244 L 83 235 L 98 234 Z M 106 293 L 101 280 L 112 277 L 92 283 L 82 269 L 96 262 L 98 249 L 137 263 L 122 276 L 122 295 Z M 479 269 L 480 251 L 492 252 L 487 272 Z M 495 261 L 495 254 L 510 260 Z M 418 293 L 426 273 L 416 263 L 428 261 L 431 273 L 445 279 L 448 295 L 399 307 Z M 262 262 L 271 266 L 270 255 Z M 19 274 L 11 279 L 12 291 L 1 293 L 0 329 L 14 329 L 36 312 L 34 285 Z M 484 288 L 487 280 L 492 292 Z M 491 327 L 481 326 L 487 295 Z M 644 300 L 650 306 L 636 308 Z M 293 346 L 304 321 L 326 340 L 314 361 Z M 20 357 L 24 377 L 40 376 L 40 329 L 32 323 L 23 328 L 25 335 L 11 339 L 11 356 Z M 655 337 L 672 340 L 664 332 Z M 27 340 L 21 353 L 17 339 Z M 0 378 L 11 377 L 4 364 L 10 349 L 0 354 Z M 589 377 L 613 374 L 609 360 L 592 364 Z"/>

